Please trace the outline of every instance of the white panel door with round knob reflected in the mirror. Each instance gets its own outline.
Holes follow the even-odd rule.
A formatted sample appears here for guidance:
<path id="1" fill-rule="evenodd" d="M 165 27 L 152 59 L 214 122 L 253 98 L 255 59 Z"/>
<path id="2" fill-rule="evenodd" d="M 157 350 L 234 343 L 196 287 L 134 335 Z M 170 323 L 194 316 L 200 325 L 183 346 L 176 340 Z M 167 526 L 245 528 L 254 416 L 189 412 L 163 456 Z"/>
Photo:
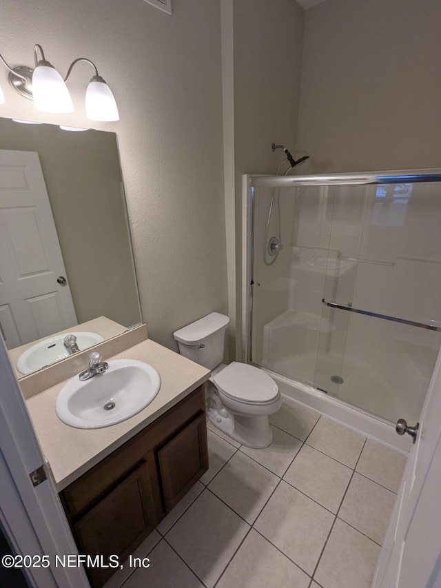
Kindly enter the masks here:
<path id="1" fill-rule="evenodd" d="M 0 150 L 0 321 L 8 349 L 78 324 L 38 153 Z"/>

